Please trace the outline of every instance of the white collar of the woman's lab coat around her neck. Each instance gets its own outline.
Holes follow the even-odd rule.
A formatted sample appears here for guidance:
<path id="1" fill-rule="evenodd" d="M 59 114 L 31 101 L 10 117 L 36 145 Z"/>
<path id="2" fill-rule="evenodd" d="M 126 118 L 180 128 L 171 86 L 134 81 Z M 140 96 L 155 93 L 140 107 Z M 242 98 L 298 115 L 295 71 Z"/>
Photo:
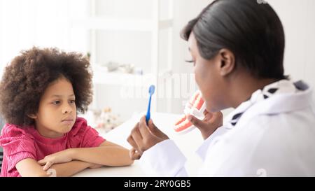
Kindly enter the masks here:
<path id="1" fill-rule="evenodd" d="M 270 93 L 270 90 L 275 93 Z M 311 93 L 312 89 L 302 80 L 296 83 L 289 80 L 279 80 L 266 85 L 262 90 L 253 92 L 251 98 L 239 105 L 235 111 L 232 111 L 223 123 L 226 128 L 232 129 L 235 127 L 233 123 L 244 118 L 241 116 L 235 120 L 239 114 L 276 114 L 305 108 L 311 104 Z"/>

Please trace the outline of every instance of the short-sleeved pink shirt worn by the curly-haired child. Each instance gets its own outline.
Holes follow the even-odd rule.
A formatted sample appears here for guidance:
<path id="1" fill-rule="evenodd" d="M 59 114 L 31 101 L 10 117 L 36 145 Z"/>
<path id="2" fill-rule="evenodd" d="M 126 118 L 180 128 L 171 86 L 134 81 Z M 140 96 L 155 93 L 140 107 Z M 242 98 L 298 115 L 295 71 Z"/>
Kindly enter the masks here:
<path id="1" fill-rule="evenodd" d="M 97 147 L 105 139 L 84 118 L 77 118 L 70 132 L 57 139 L 41 136 L 34 126 L 18 127 L 6 124 L 1 132 L 3 162 L 0 176 L 20 176 L 15 164 L 26 158 L 36 161 L 67 148 Z"/>

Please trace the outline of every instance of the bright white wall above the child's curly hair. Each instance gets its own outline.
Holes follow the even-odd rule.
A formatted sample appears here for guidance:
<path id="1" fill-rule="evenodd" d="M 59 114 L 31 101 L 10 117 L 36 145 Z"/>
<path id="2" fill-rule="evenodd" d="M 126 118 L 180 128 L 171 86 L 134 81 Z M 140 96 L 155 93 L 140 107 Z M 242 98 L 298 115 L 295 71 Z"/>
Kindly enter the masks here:
<path id="1" fill-rule="evenodd" d="M 36 45 L 86 52 L 87 32 L 71 29 L 87 0 L 0 0 L 0 75 L 21 50 Z"/>

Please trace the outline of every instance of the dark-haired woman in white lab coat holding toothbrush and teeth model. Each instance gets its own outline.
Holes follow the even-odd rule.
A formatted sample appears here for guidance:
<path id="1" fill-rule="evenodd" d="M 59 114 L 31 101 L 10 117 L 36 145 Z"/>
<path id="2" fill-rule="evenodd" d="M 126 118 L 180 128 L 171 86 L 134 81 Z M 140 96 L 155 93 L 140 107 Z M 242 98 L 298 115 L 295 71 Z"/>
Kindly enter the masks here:
<path id="1" fill-rule="evenodd" d="M 272 7 L 217 0 L 181 36 L 207 104 L 204 120 L 189 117 L 204 139 L 200 176 L 315 176 L 312 90 L 283 75 L 284 32 Z M 127 141 L 151 176 L 188 175 L 186 158 L 152 120 L 141 118 Z"/>

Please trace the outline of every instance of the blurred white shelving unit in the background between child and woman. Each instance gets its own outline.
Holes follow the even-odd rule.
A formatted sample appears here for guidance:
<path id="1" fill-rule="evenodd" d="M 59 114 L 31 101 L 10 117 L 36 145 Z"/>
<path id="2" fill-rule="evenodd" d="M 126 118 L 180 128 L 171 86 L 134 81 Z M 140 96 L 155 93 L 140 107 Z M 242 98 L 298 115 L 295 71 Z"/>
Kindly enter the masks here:
<path id="1" fill-rule="evenodd" d="M 72 17 L 70 23 L 88 34 L 94 84 L 90 108 L 110 107 L 127 120 L 146 110 L 153 84 L 152 111 L 171 112 L 170 100 L 156 95 L 164 85 L 160 76 L 172 73 L 174 0 L 91 0 L 89 6 L 87 17 Z M 130 64 L 143 75 L 106 71 L 102 66 L 109 62 Z"/>

